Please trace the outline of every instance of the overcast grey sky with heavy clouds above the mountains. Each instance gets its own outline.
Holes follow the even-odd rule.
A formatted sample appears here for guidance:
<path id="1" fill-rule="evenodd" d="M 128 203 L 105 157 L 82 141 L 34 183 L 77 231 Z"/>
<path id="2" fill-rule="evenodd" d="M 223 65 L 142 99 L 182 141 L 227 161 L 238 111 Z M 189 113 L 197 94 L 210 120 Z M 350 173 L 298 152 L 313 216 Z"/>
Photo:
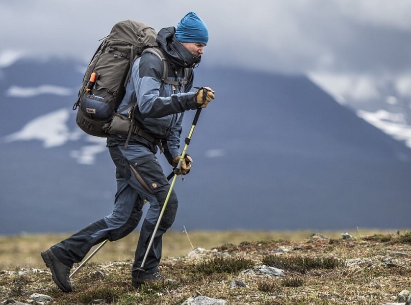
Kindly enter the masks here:
<path id="1" fill-rule="evenodd" d="M 308 74 L 336 87 L 349 87 L 346 76 L 351 85 L 392 78 L 411 92 L 409 0 L 0 0 L 0 67 L 16 52 L 88 61 L 120 20 L 159 30 L 189 11 L 209 29 L 207 65 Z"/>

